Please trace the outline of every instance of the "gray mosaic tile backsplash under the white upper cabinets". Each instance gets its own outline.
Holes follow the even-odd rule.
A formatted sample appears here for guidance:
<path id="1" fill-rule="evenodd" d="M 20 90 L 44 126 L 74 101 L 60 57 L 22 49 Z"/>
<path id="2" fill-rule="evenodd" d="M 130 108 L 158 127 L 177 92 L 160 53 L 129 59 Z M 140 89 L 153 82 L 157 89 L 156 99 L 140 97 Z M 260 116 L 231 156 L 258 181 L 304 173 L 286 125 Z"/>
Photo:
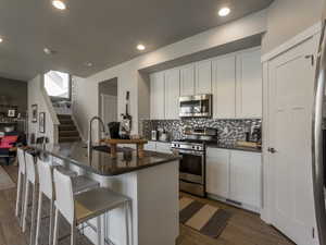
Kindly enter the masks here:
<path id="1" fill-rule="evenodd" d="M 143 120 L 140 132 L 150 139 L 152 130 L 164 128 L 170 133 L 171 140 L 184 137 L 185 127 L 213 127 L 217 128 L 217 144 L 233 146 L 237 140 L 246 139 L 246 132 L 253 125 L 262 125 L 261 119 L 183 119 L 183 120 Z"/>

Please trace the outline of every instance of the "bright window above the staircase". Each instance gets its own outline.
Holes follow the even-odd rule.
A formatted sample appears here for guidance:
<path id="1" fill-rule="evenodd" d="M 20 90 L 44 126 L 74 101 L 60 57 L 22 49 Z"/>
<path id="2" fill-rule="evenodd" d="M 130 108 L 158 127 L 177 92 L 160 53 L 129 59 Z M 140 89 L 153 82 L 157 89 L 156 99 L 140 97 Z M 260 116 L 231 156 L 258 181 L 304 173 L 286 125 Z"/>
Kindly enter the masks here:
<path id="1" fill-rule="evenodd" d="M 50 71 L 45 74 L 45 88 L 49 96 L 71 98 L 71 76 L 67 73 Z"/>

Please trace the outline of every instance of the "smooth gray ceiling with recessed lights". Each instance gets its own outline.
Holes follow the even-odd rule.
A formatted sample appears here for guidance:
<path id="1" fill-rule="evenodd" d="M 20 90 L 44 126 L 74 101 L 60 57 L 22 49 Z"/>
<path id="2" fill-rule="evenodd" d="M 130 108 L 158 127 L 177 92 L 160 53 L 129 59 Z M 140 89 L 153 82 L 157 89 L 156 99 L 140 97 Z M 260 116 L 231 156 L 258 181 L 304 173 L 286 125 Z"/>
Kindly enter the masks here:
<path id="1" fill-rule="evenodd" d="M 48 70 L 88 76 L 205 29 L 262 10 L 273 0 L 50 0 L 0 3 L 0 76 L 28 81 Z M 231 14 L 220 17 L 228 5 Z M 46 56 L 43 48 L 57 51 Z M 88 68 L 86 62 L 93 63 Z"/>

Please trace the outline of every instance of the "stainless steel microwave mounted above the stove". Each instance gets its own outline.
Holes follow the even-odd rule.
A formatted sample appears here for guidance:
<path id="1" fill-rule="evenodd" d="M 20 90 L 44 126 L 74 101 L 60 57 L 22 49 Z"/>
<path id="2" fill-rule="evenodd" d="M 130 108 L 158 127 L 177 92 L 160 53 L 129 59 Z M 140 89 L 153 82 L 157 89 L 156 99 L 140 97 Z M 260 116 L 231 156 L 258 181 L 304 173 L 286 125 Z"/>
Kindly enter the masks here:
<path id="1" fill-rule="evenodd" d="M 212 95 L 185 96 L 179 98 L 180 118 L 211 118 Z"/>

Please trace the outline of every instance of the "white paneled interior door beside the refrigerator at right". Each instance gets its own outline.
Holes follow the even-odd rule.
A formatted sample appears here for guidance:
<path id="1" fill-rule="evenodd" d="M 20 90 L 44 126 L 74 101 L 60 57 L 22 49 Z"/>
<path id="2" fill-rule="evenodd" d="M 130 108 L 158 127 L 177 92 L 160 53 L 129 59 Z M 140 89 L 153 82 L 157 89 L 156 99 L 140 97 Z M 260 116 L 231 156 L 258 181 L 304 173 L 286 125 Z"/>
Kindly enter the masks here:
<path id="1" fill-rule="evenodd" d="M 273 224 L 298 245 L 313 244 L 311 121 L 315 52 L 311 38 L 269 63 Z"/>

